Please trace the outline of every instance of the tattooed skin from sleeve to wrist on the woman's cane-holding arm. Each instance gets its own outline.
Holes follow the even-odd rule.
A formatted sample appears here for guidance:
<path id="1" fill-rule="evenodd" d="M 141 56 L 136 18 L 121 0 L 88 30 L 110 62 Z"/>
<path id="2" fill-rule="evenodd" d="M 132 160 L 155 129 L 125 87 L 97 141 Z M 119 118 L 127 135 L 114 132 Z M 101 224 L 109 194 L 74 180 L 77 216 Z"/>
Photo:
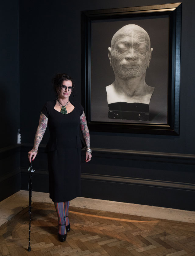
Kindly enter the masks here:
<path id="1" fill-rule="evenodd" d="M 41 143 L 41 140 L 43 138 L 47 125 L 48 125 L 48 118 L 41 112 L 39 125 L 37 127 L 37 132 L 34 137 L 34 148 L 36 148 L 37 150 L 38 150 L 39 144 Z"/>

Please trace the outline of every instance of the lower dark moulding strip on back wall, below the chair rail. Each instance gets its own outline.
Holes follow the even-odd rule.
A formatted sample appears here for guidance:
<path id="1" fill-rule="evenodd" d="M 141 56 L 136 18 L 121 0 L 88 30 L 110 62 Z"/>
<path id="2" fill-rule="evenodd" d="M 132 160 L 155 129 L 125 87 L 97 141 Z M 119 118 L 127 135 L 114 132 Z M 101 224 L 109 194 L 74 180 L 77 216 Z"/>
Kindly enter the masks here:
<path id="1" fill-rule="evenodd" d="M 21 174 L 29 174 L 26 168 L 20 168 Z M 48 176 L 48 170 L 36 169 L 32 175 L 46 175 Z M 92 180 L 92 181 L 103 181 L 103 182 L 115 182 L 121 184 L 129 185 L 140 185 L 140 186 L 151 186 L 160 188 L 174 188 L 174 189 L 185 189 L 195 191 L 195 184 L 192 183 L 182 183 L 182 182 L 172 182 L 172 181 L 159 181 L 159 180 L 149 180 L 131 177 L 120 177 L 112 175 L 102 175 L 102 174 L 88 174 L 81 173 L 81 180 Z"/>

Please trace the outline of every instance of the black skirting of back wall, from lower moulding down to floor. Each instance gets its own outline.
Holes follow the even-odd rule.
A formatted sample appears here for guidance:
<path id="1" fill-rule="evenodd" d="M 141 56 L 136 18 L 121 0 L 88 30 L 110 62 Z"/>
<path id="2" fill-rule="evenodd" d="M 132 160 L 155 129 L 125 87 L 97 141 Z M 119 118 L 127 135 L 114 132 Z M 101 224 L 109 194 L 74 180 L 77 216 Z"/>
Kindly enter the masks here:
<path id="1" fill-rule="evenodd" d="M 21 189 L 27 190 L 28 179 L 28 171 L 22 168 Z M 33 190 L 48 193 L 48 183 L 48 171 L 35 170 L 33 173 Z M 195 206 L 192 203 L 195 196 L 194 184 L 82 173 L 81 196 L 195 211 Z"/>

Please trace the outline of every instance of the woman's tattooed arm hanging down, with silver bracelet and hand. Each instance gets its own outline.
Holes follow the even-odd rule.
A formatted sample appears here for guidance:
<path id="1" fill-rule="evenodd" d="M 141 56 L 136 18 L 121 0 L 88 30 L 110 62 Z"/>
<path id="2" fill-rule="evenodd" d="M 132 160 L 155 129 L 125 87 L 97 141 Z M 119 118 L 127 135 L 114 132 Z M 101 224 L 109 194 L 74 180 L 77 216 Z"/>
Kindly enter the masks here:
<path id="1" fill-rule="evenodd" d="M 85 140 L 85 144 L 87 148 L 90 148 L 90 136 L 89 136 L 89 129 L 87 127 L 87 121 L 85 117 L 85 113 L 80 116 L 80 130 L 83 134 L 83 139 Z M 91 153 L 86 151 L 86 160 L 85 162 L 89 162 L 91 160 Z"/>

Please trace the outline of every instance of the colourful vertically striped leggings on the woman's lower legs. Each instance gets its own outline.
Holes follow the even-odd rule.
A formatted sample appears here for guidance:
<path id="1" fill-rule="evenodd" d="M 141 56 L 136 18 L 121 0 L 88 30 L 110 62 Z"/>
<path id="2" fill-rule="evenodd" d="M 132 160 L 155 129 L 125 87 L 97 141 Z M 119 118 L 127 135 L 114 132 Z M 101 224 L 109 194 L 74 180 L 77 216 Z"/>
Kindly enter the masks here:
<path id="1" fill-rule="evenodd" d="M 70 201 L 54 203 L 55 210 L 58 215 L 58 233 L 61 235 L 66 234 L 66 226 L 69 225 L 68 208 Z M 63 225 L 63 226 L 62 226 Z"/>

